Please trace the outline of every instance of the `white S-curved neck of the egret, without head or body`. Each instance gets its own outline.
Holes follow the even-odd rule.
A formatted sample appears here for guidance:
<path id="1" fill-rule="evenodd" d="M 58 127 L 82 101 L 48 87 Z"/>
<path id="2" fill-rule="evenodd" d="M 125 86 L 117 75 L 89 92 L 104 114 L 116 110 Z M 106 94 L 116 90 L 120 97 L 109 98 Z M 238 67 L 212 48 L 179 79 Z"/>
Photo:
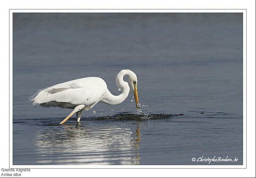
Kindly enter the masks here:
<path id="1" fill-rule="evenodd" d="M 130 91 L 130 87 L 128 82 L 125 82 L 123 79 L 125 75 L 128 75 L 128 72 L 126 72 L 126 70 L 122 70 L 116 76 L 116 86 L 122 90 L 122 93 L 118 96 L 115 96 L 112 95 L 110 91 L 107 89 L 104 95 L 105 97 L 101 100 L 102 102 L 114 105 L 122 103 L 127 98 Z"/>

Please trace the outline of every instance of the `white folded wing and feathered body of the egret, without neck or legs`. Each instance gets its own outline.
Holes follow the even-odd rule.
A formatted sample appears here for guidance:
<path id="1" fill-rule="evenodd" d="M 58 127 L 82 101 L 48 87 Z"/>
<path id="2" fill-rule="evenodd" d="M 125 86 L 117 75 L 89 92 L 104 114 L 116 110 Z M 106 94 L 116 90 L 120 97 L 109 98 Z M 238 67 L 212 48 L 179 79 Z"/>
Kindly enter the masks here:
<path id="1" fill-rule="evenodd" d="M 41 104 L 55 107 L 60 106 L 58 103 L 91 106 L 100 101 L 106 89 L 107 84 L 103 79 L 99 77 L 86 77 L 43 89 L 36 93 L 36 96 L 32 96 L 30 101 L 33 105 Z"/>

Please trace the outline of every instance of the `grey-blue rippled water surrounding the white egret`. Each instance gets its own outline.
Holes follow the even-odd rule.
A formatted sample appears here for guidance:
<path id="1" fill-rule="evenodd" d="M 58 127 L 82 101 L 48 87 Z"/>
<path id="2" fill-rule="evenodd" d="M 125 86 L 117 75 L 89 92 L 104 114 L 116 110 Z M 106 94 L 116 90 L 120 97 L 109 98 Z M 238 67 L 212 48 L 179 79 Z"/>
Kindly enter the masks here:
<path id="1" fill-rule="evenodd" d="M 14 13 L 14 165 L 243 164 L 242 13 Z M 31 107 L 37 89 L 100 76 L 138 77 L 118 105 Z M 128 79 L 125 78 L 127 81 Z M 146 106 L 143 106 L 146 105 Z M 123 110 L 124 109 L 124 110 Z M 96 113 L 93 113 L 93 110 Z"/>

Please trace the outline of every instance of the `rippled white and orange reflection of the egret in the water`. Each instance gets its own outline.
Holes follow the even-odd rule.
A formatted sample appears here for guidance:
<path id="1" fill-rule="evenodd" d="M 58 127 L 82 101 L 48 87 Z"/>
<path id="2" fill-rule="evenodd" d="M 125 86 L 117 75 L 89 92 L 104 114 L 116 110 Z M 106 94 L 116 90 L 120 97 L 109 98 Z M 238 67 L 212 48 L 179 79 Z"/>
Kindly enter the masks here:
<path id="1" fill-rule="evenodd" d="M 36 164 L 140 164 L 140 129 L 63 125 L 37 135 Z"/>

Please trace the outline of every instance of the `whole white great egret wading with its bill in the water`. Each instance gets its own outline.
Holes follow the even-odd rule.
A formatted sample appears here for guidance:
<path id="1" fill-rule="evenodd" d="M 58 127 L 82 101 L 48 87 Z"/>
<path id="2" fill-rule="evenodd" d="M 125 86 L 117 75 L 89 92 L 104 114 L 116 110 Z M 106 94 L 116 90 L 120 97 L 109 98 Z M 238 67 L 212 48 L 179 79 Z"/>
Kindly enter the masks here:
<path id="1" fill-rule="evenodd" d="M 118 96 L 112 95 L 106 82 L 99 77 L 86 77 L 53 85 L 36 93 L 30 99 L 33 105 L 74 109 L 60 124 L 76 113 L 80 122 L 83 110 L 91 109 L 98 102 L 111 105 L 122 103 L 128 96 L 130 87 L 123 80 L 127 75 L 132 86 L 136 108 L 138 109 L 137 76 L 131 70 L 121 70 L 116 76 L 116 85 L 122 90 Z"/>

